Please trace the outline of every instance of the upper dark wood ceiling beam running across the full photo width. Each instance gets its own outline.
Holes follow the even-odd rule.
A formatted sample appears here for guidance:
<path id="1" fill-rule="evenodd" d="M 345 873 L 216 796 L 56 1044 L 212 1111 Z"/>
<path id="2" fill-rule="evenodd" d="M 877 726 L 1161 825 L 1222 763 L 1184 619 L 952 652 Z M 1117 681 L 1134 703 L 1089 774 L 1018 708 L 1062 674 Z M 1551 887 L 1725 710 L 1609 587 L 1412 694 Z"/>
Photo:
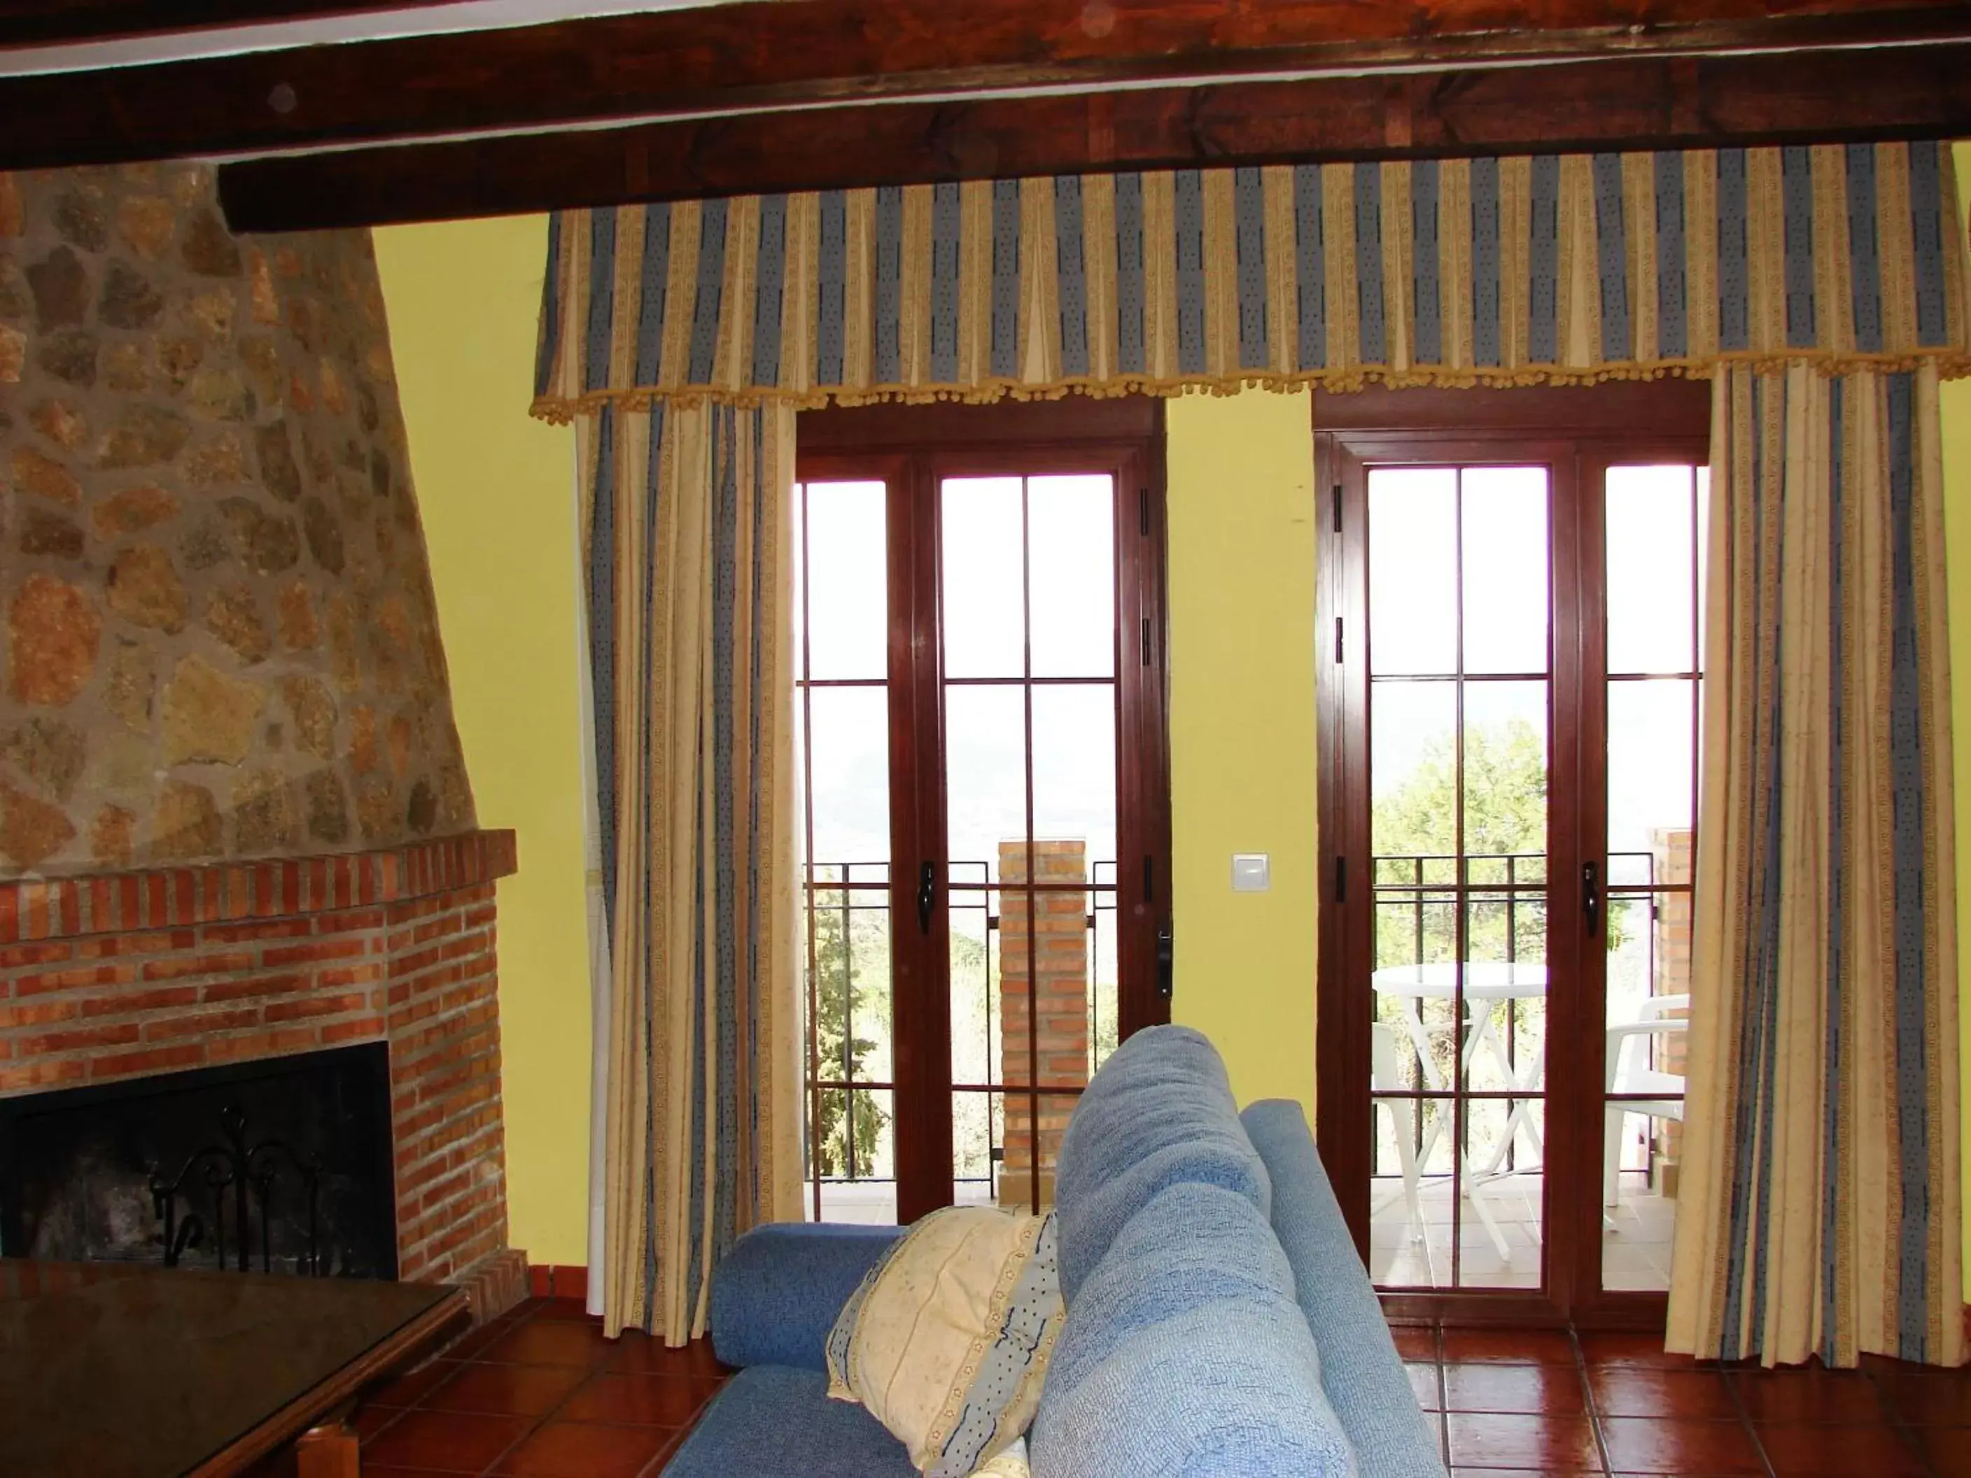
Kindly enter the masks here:
<path id="1" fill-rule="evenodd" d="M 597 120 L 1971 39 L 1965 0 L 765 0 L 0 81 L 0 168 Z"/>

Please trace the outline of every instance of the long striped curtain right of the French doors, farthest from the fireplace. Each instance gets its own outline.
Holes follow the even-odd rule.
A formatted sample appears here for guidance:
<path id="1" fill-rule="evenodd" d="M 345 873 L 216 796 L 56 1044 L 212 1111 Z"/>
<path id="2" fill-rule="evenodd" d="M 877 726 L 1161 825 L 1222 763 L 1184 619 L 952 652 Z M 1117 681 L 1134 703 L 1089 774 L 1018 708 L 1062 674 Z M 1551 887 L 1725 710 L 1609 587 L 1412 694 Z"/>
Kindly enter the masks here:
<path id="1" fill-rule="evenodd" d="M 1934 369 L 1713 394 L 1669 1348 L 1965 1360 Z"/>

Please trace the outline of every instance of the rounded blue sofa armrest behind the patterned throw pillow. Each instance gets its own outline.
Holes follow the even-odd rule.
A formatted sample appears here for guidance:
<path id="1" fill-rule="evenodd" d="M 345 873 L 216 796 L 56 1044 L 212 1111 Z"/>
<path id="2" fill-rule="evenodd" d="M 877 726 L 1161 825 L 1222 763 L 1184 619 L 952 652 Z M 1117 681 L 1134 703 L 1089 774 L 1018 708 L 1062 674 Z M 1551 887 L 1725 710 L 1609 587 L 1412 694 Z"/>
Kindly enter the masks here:
<path id="1" fill-rule="evenodd" d="M 836 1314 L 903 1234 L 895 1226 L 773 1222 L 712 1275 L 712 1350 L 727 1366 L 824 1370 Z"/>

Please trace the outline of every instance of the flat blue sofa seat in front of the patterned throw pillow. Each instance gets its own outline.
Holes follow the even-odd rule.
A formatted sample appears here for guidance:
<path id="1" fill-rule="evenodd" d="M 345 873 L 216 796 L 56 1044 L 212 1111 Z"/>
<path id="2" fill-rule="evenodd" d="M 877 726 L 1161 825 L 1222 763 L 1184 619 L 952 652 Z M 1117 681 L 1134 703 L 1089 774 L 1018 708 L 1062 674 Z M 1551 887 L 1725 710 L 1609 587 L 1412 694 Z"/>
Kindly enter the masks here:
<path id="1" fill-rule="evenodd" d="M 850 1401 L 828 1399 L 828 1377 L 790 1366 L 751 1366 L 717 1393 L 664 1464 L 664 1478 L 918 1478 L 903 1443 Z"/>

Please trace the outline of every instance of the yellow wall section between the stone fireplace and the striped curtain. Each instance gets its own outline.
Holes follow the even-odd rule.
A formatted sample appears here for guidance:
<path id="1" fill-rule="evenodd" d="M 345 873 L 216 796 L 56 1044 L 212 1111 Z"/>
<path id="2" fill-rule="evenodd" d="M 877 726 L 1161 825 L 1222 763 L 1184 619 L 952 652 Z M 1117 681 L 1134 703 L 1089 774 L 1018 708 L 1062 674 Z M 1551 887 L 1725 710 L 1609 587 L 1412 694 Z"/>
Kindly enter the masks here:
<path id="1" fill-rule="evenodd" d="M 581 859 L 574 432 L 530 420 L 546 217 L 376 233 L 451 711 L 499 885 L 509 1238 L 587 1261 L 589 944 Z"/>

